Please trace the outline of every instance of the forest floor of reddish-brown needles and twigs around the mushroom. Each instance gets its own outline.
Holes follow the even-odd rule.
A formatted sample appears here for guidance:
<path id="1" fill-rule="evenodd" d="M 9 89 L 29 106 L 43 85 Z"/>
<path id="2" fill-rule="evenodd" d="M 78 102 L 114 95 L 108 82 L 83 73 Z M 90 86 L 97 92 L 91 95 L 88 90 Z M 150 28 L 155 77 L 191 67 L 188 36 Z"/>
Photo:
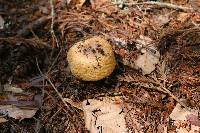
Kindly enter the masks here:
<path id="1" fill-rule="evenodd" d="M 99 81 L 79 80 L 66 52 L 97 35 L 112 44 L 116 68 Z M 137 44 L 155 52 L 148 42 L 160 56 L 144 75 L 134 61 Z M 200 128 L 199 117 L 178 125 L 169 117 L 178 103 L 200 110 L 200 0 L 0 0 L 1 133 L 87 133 L 76 104 L 101 97 L 120 99 L 130 133 Z M 10 105 L 37 111 L 16 118 L 3 110 Z"/>

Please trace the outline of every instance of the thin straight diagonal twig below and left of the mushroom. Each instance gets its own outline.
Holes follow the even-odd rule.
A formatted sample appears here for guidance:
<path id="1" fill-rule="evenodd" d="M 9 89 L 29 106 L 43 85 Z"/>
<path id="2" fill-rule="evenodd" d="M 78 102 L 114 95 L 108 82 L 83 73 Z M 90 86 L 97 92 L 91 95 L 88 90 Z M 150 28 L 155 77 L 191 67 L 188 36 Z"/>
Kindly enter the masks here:
<path id="1" fill-rule="evenodd" d="M 60 94 L 60 92 L 57 90 L 57 88 L 54 86 L 54 84 L 51 82 L 51 80 L 48 78 L 48 76 L 44 75 L 42 73 L 42 71 L 40 70 L 40 67 L 38 65 L 38 61 L 37 61 L 37 58 L 36 58 L 36 65 L 38 67 L 38 70 L 41 74 L 41 76 L 43 76 L 50 84 L 51 86 L 53 87 L 53 89 L 56 91 L 56 93 L 58 94 L 59 98 L 62 100 L 62 102 L 64 103 L 64 105 L 72 112 L 72 110 L 70 109 L 70 107 L 67 105 L 66 101 L 64 100 L 64 98 L 62 97 L 62 95 Z"/>

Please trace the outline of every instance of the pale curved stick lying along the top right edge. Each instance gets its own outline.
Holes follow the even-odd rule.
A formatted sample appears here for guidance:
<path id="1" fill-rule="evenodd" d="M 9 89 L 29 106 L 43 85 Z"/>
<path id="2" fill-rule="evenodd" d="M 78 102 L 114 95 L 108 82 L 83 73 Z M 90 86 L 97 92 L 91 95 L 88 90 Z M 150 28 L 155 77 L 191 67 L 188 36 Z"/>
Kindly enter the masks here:
<path id="1" fill-rule="evenodd" d="M 175 10 L 183 10 L 183 11 L 193 10 L 193 8 L 189 8 L 189 7 L 183 7 L 183 6 L 174 5 L 174 4 L 171 4 L 171 3 L 156 2 L 156 1 L 147 1 L 147 2 L 140 2 L 140 3 L 127 3 L 126 5 L 134 6 L 134 5 L 144 5 L 144 4 L 157 5 L 157 6 L 160 6 L 160 7 L 171 8 L 171 9 L 175 9 Z"/>

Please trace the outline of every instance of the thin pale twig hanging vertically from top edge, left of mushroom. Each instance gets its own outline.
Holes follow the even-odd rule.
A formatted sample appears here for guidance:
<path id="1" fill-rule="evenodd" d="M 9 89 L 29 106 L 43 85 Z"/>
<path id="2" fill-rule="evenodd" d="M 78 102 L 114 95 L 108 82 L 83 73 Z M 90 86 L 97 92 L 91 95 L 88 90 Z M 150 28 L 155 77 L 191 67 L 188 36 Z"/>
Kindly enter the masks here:
<path id="1" fill-rule="evenodd" d="M 53 3 L 54 0 L 50 0 L 50 5 L 51 5 L 51 36 L 52 36 L 52 39 L 53 39 L 53 46 L 54 46 L 54 39 L 56 41 L 56 46 L 59 47 L 59 44 L 58 44 L 58 39 L 55 35 L 55 32 L 54 32 L 54 19 L 55 19 L 55 11 L 54 11 L 54 3 Z"/>

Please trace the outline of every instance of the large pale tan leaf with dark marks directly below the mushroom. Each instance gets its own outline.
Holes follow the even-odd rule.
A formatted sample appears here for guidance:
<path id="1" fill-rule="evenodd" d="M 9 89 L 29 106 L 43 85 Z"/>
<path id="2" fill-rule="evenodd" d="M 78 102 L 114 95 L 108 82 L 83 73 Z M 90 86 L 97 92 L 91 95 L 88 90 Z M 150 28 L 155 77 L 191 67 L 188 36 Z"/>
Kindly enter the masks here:
<path id="1" fill-rule="evenodd" d="M 127 133 L 124 112 L 119 104 L 88 99 L 82 103 L 85 126 L 91 133 Z"/>

